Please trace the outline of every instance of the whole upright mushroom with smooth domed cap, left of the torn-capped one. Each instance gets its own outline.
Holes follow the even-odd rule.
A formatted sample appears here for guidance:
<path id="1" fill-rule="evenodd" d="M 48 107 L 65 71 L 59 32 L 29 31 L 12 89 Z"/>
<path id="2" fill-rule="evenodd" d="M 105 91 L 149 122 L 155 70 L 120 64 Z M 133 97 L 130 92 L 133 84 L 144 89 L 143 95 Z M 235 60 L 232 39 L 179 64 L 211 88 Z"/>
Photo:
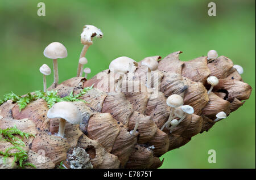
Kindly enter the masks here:
<path id="1" fill-rule="evenodd" d="M 59 82 L 57 59 L 67 57 L 67 49 L 60 42 L 52 42 L 44 49 L 44 56 L 53 59 L 54 86 L 56 87 Z"/>

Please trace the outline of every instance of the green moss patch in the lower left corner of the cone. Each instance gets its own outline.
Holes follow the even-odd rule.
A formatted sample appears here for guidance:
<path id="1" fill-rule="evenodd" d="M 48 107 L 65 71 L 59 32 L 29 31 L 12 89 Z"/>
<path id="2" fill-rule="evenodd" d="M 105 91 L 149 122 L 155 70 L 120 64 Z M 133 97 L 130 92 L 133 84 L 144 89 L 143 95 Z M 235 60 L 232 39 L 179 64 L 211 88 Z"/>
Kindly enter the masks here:
<path id="1" fill-rule="evenodd" d="M 0 151 L 0 155 L 3 156 L 3 160 L 5 162 L 7 157 L 14 157 L 13 164 L 17 162 L 19 164 L 18 168 L 26 168 L 26 166 L 31 166 L 36 168 L 35 165 L 26 162 L 28 159 L 28 153 L 22 149 L 26 144 L 22 141 L 24 138 L 29 138 L 30 136 L 35 136 L 26 132 L 20 131 L 16 126 L 6 128 L 5 130 L 0 129 L 0 140 L 5 140 L 13 144 L 13 147 L 9 147 L 5 152 Z M 19 135 L 21 137 L 18 138 L 15 135 Z M 11 149 L 17 149 L 18 151 L 15 153 L 9 153 Z"/>

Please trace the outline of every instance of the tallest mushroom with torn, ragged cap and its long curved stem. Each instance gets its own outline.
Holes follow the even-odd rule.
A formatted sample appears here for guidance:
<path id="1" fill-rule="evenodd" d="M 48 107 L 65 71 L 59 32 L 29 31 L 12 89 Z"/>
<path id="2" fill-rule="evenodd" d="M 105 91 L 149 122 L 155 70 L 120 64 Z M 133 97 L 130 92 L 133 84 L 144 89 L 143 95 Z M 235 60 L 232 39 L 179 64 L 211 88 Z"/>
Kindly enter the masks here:
<path id="1" fill-rule="evenodd" d="M 85 57 L 85 54 L 89 46 L 93 44 L 93 41 L 92 41 L 93 37 L 102 38 L 102 36 L 103 36 L 103 33 L 101 32 L 101 29 L 98 29 L 93 25 L 84 25 L 84 28 L 82 29 L 82 33 L 81 33 L 81 43 L 84 45 L 84 48 L 82 48 L 80 58 Z M 79 63 L 79 66 L 77 68 L 77 77 L 80 76 L 81 69 L 82 69 L 82 65 Z"/>

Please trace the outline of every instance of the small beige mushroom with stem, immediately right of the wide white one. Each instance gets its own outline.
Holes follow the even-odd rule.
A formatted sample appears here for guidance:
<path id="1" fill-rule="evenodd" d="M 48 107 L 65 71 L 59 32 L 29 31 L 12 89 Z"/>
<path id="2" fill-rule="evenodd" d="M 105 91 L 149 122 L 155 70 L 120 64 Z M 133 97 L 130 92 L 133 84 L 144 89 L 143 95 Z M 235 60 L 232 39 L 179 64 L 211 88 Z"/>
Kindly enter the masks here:
<path id="1" fill-rule="evenodd" d="M 151 71 L 155 71 L 158 69 L 158 62 L 155 61 L 153 58 L 145 58 L 141 65 L 147 66 L 147 81 L 146 81 L 146 86 L 147 88 L 151 88 Z"/>

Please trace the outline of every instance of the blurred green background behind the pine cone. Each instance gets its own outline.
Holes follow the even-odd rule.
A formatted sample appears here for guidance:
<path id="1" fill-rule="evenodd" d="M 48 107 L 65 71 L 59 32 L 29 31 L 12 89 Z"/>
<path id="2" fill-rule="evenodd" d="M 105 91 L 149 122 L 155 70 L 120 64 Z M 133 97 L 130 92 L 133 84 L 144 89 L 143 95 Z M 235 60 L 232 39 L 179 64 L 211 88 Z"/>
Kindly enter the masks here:
<path id="1" fill-rule="evenodd" d="M 38 3 L 46 16 L 38 16 Z M 68 57 L 59 60 L 60 82 L 76 76 L 85 24 L 104 32 L 86 57 L 91 78 L 110 61 L 128 56 L 137 61 L 182 50 L 188 61 L 215 49 L 244 69 L 242 78 L 253 87 L 249 100 L 209 132 L 166 153 L 161 168 L 255 168 L 255 1 L 213 1 L 217 16 L 208 16 L 212 1 L 0 1 L 0 97 L 43 88 L 39 67 L 52 60 L 43 55 L 53 41 L 63 43 Z M 53 75 L 47 78 L 48 85 Z M 216 151 L 216 164 L 208 151 Z"/>

